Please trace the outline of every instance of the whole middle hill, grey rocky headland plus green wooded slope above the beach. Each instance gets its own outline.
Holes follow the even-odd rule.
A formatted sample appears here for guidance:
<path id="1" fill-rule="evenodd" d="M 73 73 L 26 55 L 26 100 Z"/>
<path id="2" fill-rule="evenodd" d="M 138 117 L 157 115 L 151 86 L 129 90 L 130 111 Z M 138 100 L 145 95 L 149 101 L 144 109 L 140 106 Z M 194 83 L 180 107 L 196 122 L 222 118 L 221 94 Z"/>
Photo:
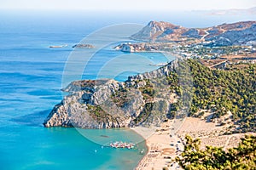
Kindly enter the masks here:
<path id="1" fill-rule="evenodd" d="M 224 133 L 255 132 L 255 73 L 255 64 L 211 70 L 198 59 L 183 59 L 126 82 L 75 81 L 63 89 L 69 95 L 55 105 L 44 126 L 160 126 L 174 117 L 210 112 L 210 121 L 229 125 Z"/>

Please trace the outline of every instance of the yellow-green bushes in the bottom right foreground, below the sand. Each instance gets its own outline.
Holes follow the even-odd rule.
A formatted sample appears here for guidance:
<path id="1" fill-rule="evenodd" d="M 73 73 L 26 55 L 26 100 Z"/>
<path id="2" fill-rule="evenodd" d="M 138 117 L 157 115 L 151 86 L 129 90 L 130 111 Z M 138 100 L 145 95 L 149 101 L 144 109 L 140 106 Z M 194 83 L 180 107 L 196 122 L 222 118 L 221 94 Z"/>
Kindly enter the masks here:
<path id="1" fill-rule="evenodd" d="M 185 170 L 256 169 L 256 136 L 245 136 L 238 147 L 227 151 L 212 146 L 200 150 L 200 139 L 186 136 L 186 140 L 183 153 L 176 157 L 176 161 Z"/>

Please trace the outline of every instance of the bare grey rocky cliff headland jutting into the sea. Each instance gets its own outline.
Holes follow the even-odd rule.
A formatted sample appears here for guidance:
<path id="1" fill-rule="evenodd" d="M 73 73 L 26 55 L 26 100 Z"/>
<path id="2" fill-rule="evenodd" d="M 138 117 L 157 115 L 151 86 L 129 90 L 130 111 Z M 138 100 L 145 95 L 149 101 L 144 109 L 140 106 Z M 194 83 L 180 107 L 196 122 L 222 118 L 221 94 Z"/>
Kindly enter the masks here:
<path id="1" fill-rule="evenodd" d="M 177 61 L 173 61 L 155 71 L 129 77 L 126 82 L 110 79 L 71 82 L 62 89 L 68 95 L 55 105 L 44 127 L 159 126 L 175 102 L 176 94 L 170 90 L 166 76 L 176 65 Z"/>

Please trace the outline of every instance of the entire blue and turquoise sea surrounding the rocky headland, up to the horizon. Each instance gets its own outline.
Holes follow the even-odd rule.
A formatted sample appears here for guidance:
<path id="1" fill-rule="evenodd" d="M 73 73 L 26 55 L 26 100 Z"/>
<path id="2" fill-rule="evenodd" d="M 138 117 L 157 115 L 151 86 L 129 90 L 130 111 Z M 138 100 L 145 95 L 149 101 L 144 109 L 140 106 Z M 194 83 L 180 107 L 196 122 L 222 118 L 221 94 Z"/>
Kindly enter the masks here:
<path id="1" fill-rule="evenodd" d="M 61 92 L 73 80 L 113 78 L 153 71 L 175 59 L 159 53 L 127 54 L 129 42 L 150 20 L 187 27 L 255 20 L 255 15 L 206 16 L 191 12 L 0 11 L 0 169 L 134 169 L 147 152 L 130 129 L 43 126 Z M 200 19 L 200 20 L 198 20 Z M 124 31 L 125 30 L 125 31 Z M 90 43 L 96 48 L 72 48 Z M 49 46 L 62 46 L 49 48 Z M 133 150 L 109 142 L 136 143 Z M 143 151 L 142 151 L 143 150 Z"/>

